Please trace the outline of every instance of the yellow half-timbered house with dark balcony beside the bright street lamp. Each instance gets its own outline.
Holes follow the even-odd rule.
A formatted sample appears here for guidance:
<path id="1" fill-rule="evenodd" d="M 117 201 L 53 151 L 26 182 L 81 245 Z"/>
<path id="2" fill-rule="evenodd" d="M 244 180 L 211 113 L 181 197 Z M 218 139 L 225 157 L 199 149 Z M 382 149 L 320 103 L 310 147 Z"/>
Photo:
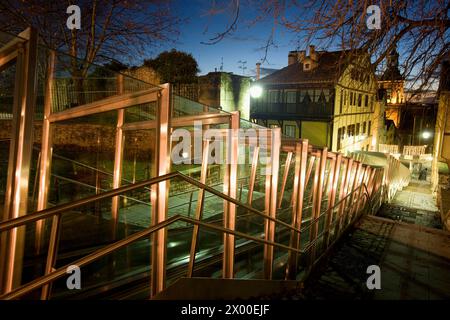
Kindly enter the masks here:
<path id="1" fill-rule="evenodd" d="M 254 85 L 262 95 L 251 98 L 253 122 L 333 151 L 376 150 L 384 105 L 364 52 L 291 51 L 287 67 Z"/>

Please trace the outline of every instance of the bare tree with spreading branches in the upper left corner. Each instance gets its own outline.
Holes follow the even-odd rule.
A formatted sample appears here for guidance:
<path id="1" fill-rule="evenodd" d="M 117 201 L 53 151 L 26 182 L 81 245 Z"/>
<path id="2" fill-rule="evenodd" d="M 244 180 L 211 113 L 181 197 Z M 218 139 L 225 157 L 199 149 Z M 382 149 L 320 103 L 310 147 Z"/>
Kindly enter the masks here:
<path id="1" fill-rule="evenodd" d="M 81 8 L 81 29 L 69 30 L 67 7 Z M 74 77 L 86 77 L 93 62 L 133 57 L 178 34 L 180 18 L 164 0 L 2 0 L 0 30 L 35 27 L 48 47 L 67 52 Z"/>

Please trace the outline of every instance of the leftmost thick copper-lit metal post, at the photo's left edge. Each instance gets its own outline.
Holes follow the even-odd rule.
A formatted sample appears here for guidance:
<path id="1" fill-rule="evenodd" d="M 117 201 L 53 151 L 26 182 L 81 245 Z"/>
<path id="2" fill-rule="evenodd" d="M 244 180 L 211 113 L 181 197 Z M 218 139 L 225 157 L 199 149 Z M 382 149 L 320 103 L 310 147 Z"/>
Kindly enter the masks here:
<path id="1" fill-rule="evenodd" d="M 27 213 L 29 173 L 33 151 L 38 35 L 35 29 L 28 28 L 20 36 L 27 41 L 24 47 L 19 49 L 16 63 L 4 220 L 18 218 Z M 24 241 L 24 227 L 9 231 L 6 252 L 1 253 L 4 259 L 1 270 L 3 292 L 10 292 L 20 284 Z"/>

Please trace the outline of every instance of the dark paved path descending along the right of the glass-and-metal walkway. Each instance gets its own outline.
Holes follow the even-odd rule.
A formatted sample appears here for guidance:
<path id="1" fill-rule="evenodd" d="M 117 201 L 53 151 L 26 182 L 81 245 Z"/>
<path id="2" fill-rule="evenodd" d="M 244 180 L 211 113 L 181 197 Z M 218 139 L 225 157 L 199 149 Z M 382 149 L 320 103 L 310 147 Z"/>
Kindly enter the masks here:
<path id="1" fill-rule="evenodd" d="M 413 180 L 378 215 L 364 217 L 288 298 L 450 299 L 450 233 L 429 183 Z M 370 265 L 380 267 L 380 290 L 367 288 Z"/>

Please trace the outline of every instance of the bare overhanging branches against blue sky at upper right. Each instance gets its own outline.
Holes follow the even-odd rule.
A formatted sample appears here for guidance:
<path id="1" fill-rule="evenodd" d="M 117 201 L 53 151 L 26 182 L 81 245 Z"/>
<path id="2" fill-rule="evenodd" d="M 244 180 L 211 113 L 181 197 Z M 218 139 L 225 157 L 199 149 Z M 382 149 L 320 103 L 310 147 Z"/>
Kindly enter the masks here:
<path id="1" fill-rule="evenodd" d="M 234 5 L 226 7 L 228 2 L 214 2 L 216 8 L 222 6 L 234 14 L 224 32 L 214 35 L 210 43 L 235 32 L 239 24 L 269 19 L 274 28 L 267 36 L 266 53 L 276 44 L 276 28 L 294 32 L 300 43 L 315 42 L 326 49 L 366 50 L 372 57 L 372 67 L 378 70 L 397 46 L 402 75 L 410 88 L 418 90 L 434 82 L 449 52 L 449 0 L 232 0 Z M 367 27 L 367 18 L 372 15 L 367 9 L 371 5 L 380 8 L 380 29 Z M 245 6 L 257 12 L 252 21 L 239 17 Z"/>

